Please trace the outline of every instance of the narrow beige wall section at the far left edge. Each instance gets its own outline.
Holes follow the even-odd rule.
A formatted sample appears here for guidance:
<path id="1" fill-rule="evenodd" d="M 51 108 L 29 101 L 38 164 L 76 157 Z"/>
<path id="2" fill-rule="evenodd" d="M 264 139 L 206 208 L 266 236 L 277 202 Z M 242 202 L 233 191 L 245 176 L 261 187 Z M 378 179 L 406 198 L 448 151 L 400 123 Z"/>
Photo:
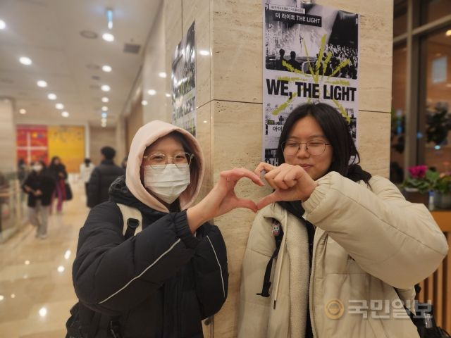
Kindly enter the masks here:
<path id="1" fill-rule="evenodd" d="M 0 99 L 0 172 L 12 173 L 16 170 L 16 125 L 14 105 L 11 99 Z"/>

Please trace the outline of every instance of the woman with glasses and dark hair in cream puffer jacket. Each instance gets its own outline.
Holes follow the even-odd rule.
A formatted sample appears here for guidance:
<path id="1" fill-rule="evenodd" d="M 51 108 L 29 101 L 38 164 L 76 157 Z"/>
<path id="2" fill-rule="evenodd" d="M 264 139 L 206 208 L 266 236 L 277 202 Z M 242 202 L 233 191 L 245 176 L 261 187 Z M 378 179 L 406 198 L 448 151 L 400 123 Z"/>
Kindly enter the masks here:
<path id="1" fill-rule="evenodd" d="M 275 191 L 257 204 L 249 234 L 238 337 L 419 337 L 403 306 L 413 310 L 414 284 L 448 249 L 426 207 L 348 165 L 357 149 L 326 104 L 296 108 L 279 149 L 282 165 L 256 170 Z"/>

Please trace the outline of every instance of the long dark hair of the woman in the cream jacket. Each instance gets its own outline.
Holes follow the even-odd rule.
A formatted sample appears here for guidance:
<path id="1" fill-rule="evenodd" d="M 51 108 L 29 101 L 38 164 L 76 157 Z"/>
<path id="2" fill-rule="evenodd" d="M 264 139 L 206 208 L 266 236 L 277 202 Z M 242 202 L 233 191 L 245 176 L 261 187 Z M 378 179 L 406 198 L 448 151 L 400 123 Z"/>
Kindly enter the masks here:
<path id="1" fill-rule="evenodd" d="M 277 147 L 276 156 L 279 165 L 285 163 L 282 149 L 283 142 L 287 140 L 295 123 L 308 115 L 320 125 L 324 136 L 332 146 L 332 162 L 328 168 L 328 173 L 336 171 L 354 182 L 363 180 L 368 184 L 371 174 L 363 170 L 358 164 L 360 162 L 359 151 L 357 151 L 351 137 L 347 122 L 335 108 L 328 104 L 302 104 L 288 115 Z"/>

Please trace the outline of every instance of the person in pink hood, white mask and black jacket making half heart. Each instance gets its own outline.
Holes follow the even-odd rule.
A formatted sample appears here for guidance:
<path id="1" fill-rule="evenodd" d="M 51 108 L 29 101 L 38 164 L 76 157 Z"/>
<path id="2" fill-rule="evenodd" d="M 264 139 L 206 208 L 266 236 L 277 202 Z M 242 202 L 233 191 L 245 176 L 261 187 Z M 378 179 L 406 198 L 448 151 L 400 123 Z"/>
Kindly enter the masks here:
<path id="1" fill-rule="evenodd" d="M 202 150 L 189 132 L 158 120 L 137 131 L 125 177 L 80 230 L 73 263 L 80 318 L 101 313 L 97 327 L 81 325 L 95 332 L 89 338 L 106 337 L 111 316 L 118 337 L 203 337 L 201 320 L 221 309 L 228 292 L 226 245 L 207 221 L 239 207 L 256 212 L 234 187 L 242 177 L 263 185 L 249 170 L 224 171 L 194 205 L 203 176 Z M 124 205 L 142 216 L 128 239 Z"/>

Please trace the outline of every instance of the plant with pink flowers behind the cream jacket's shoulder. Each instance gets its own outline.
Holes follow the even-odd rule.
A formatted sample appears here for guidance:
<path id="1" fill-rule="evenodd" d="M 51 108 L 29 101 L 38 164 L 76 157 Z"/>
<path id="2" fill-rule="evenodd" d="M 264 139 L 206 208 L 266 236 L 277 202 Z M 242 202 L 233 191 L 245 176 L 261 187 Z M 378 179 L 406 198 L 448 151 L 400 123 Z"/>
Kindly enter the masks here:
<path id="1" fill-rule="evenodd" d="M 439 174 L 429 170 L 426 165 L 414 165 L 409 168 L 409 177 L 401 185 L 404 197 L 412 203 L 429 204 L 429 191 L 434 187 Z"/>

